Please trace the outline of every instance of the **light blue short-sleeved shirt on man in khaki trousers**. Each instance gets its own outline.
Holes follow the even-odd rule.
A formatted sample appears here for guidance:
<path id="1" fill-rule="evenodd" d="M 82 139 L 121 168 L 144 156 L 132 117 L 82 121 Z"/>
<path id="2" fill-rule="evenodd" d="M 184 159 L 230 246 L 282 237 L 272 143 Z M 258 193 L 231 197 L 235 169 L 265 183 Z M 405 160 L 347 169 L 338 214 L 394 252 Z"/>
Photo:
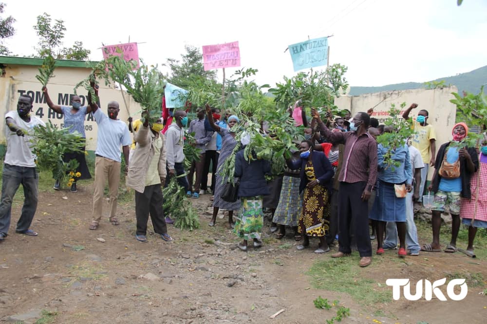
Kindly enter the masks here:
<path id="1" fill-rule="evenodd" d="M 121 120 L 108 118 L 101 109 L 96 109 L 93 115 L 96 124 L 98 124 L 98 142 L 95 154 L 116 162 L 122 162 L 120 145 L 131 144 L 129 127 Z"/>

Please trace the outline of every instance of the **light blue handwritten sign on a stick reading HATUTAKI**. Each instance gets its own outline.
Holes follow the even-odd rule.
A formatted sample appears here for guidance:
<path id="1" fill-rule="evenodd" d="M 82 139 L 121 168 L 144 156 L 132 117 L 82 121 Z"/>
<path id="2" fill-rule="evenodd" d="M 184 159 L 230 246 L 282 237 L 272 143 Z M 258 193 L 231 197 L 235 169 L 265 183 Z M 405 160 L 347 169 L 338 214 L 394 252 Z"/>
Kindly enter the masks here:
<path id="1" fill-rule="evenodd" d="M 328 37 L 309 39 L 302 43 L 289 45 L 294 71 L 327 65 Z"/>

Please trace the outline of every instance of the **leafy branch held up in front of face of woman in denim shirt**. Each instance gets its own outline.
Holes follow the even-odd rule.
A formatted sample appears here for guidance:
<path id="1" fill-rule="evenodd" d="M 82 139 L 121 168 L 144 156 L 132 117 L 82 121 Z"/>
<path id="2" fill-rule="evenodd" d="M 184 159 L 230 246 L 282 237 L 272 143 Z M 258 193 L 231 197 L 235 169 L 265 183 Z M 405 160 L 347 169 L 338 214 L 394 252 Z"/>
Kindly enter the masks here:
<path id="1" fill-rule="evenodd" d="M 393 160 L 395 149 L 397 147 L 404 146 L 414 132 L 412 129 L 412 120 L 405 120 L 404 118 L 399 117 L 401 110 L 405 106 L 405 102 L 400 105 L 400 109 L 396 108 L 395 104 L 391 104 L 391 108 L 388 110 L 391 118 L 388 118 L 384 122 L 384 125 L 386 126 L 384 128 L 387 129 L 387 127 L 389 127 L 390 132 L 384 132 L 377 137 L 378 144 L 382 144 L 382 146 L 389 148 L 389 150 L 383 156 L 386 169 L 388 167 L 392 167 L 394 169 L 395 167 L 399 166 L 400 163 Z"/>

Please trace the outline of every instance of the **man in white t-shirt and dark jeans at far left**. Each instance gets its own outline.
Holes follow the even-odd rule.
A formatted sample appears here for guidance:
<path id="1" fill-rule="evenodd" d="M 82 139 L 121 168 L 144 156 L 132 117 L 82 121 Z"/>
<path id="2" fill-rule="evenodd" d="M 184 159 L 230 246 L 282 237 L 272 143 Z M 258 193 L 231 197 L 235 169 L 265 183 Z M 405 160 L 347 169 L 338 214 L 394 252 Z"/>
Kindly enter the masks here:
<path id="1" fill-rule="evenodd" d="M 37 236 L 30 229 L 37 209 L 37 194 L 39 177 L 36 172 L 35 156 L 29 142 L 33 128 L 37 125 L 46 126 L 36 116 L 29 113 L 32 109 L 32 98 L 21 95 L 17 103 L 17 111 L 5 114 L 5 137 L 7 139 L 7 153 L 2 172 L 2 188 L 0 202 L 0 241 L 7 236 L 10 227 L 10 212 L 20 183 L 24 189 L 24 204 L 17 222 L 16 233 Z"/>

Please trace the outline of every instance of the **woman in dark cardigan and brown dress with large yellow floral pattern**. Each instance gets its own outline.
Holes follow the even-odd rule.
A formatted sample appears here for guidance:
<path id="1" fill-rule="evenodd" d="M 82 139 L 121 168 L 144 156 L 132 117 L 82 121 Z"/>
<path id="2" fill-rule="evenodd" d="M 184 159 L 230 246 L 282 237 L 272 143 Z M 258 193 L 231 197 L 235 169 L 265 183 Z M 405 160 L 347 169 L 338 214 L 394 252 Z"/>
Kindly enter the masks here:
<path id="1" fill-rule="evenodd" d="M 303 192 L 301 216 L 298 222 L 298 233 L 304 236 L 304 243 L 298 250 L 309 247 L 309 236 L 319 238 L 315 253 L 329 252 L 325 235 L 330 225 L 329 193 L 332 189 L 333 168 L 326 156 L 313 151 L 311 141 L 300 144 L 300 160 L 288 160 L 292 169 L 301 168 L 300 193 Z"/>

